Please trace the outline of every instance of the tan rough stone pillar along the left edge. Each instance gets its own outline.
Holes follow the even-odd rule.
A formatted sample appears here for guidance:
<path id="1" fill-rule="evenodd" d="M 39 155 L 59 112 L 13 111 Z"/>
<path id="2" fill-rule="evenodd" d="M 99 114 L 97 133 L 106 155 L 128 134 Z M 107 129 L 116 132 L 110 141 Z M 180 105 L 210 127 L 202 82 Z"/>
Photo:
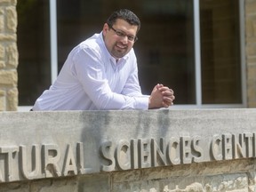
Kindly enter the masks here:
<path id="1" fill-rule="evenodd" d="M 17 89 L 16 0 L 0 0 L 0 111 L 15 111 Z"/>

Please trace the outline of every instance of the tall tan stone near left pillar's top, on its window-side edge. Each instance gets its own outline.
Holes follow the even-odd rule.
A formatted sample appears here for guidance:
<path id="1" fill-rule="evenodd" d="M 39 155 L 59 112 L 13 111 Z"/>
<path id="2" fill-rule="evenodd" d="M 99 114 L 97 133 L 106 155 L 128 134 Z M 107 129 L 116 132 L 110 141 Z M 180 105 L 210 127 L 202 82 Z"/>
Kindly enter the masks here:
<path id="1" fill-rule="evenodd" d="M 6 19 L 7 19 L 7 29 L 16 33 L 17 28 L 17 12 L 15 6 L 9 6 L 6 8 Z"/>

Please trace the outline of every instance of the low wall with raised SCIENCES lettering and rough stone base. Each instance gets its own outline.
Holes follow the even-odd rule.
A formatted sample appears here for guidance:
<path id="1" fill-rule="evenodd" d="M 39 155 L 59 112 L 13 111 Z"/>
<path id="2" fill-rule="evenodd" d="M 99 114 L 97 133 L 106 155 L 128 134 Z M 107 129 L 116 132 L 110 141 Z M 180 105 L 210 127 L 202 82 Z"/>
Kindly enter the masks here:
<path id="1" fill-rule="evenodd" d="M 0 119 L 0 191 L 255 188 L 255 109 L 3 112 Z"/>

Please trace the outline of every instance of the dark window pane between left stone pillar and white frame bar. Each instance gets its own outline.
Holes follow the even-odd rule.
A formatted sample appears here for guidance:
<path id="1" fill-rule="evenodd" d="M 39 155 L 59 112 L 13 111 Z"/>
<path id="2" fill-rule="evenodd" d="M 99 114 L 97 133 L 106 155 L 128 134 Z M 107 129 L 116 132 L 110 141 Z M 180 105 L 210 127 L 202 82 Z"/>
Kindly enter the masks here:
<path id="1" fill-rule="evenodd" d="M 19 105 L 31 106 L 51 84 L 49 2 L 17 2 Z"/>

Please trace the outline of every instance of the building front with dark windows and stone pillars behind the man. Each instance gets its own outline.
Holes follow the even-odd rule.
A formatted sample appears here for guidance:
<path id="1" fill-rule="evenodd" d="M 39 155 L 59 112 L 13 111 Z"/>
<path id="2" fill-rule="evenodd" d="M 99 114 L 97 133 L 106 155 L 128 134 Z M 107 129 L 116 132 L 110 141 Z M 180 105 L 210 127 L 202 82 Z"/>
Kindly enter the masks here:
<path id="1" fill-rule="evenodd" d="M 160 82 L 174 90 L 174 108 L 256 106 L 256 0 L 76 0 L 72 6 L 2 0 L 0 6 L 0 111 L 28 111 L 68 52 L 100 32 L 118 8 L 141 20 L 134 50 L 144 93 Z"/>

